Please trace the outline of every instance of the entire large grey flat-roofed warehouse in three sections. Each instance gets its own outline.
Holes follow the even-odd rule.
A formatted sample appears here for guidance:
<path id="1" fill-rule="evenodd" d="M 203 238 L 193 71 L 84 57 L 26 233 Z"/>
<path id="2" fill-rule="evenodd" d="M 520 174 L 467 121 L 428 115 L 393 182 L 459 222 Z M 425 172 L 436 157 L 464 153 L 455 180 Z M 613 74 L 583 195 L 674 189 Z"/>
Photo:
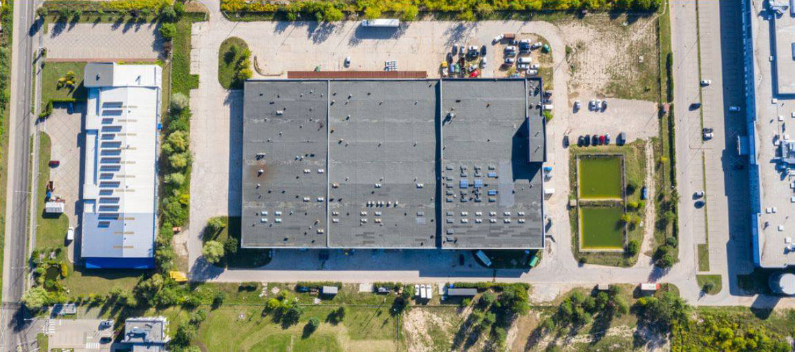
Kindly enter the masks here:
<path id="1" fill-rule="evenodd" d="M 544 246 L 540 79 L 245 83 L 242 246 Z"/>

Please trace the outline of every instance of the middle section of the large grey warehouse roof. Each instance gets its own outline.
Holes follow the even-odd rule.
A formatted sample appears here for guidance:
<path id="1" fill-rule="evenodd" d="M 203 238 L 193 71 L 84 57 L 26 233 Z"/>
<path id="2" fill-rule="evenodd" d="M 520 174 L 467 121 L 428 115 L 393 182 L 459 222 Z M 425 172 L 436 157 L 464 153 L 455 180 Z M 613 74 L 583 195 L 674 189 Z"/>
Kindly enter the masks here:
<path id="1" fill-rule="evenodd" d="M 329 243 L 435 246 L 438 81 L 332 81 Z"/>

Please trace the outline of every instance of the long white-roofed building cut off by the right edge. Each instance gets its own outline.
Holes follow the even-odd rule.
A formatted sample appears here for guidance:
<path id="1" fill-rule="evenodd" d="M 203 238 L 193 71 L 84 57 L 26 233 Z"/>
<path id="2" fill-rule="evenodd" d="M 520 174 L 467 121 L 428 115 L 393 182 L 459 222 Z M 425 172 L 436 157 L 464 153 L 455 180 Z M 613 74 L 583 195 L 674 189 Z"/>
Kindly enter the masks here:
<path id="1" fill-rule="evenodd" d="M 761 268 L 795 265 L 795 3 L 743 0 L 751 255 Z"/>

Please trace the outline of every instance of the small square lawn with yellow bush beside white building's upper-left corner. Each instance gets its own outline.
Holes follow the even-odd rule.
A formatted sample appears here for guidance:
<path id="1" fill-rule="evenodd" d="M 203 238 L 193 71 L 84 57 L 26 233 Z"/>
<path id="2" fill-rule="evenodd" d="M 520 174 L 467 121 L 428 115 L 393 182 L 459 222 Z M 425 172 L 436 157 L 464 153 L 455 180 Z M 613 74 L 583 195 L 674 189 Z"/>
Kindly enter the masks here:
<path id="1" fill-rule="evenodd" d="M 41 72 L 41 109 L 44 110 L 47 102 L 56 99 L 86 100 L 87 90 L 83 86 L 84 62 L 46 62 Z M 66 72 L 75 72 L 74 87 L 58 87 L 58 79 L 64 77 Z"/>

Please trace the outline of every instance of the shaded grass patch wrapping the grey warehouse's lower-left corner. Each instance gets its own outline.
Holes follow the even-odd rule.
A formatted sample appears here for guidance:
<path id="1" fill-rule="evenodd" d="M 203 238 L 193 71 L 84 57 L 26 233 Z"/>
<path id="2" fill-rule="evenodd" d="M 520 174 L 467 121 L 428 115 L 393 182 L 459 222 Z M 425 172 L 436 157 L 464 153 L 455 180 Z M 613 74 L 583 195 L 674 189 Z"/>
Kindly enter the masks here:
<path id="1" fill-rule="evenodd" d="M 270 263 L 270 249 L 240 248 L 240 217 L 219 217 L 223 222 L 223 228 L 215 234 L 209 234 L 205 230 L 203 241 L 218 241 L 226 243 L 229 238 L 234 238 L 237 242 L 236 253 L 224 253 L 223 259 L 219 262 L 220 266 L 229 268 L 258 268 Z"/>

